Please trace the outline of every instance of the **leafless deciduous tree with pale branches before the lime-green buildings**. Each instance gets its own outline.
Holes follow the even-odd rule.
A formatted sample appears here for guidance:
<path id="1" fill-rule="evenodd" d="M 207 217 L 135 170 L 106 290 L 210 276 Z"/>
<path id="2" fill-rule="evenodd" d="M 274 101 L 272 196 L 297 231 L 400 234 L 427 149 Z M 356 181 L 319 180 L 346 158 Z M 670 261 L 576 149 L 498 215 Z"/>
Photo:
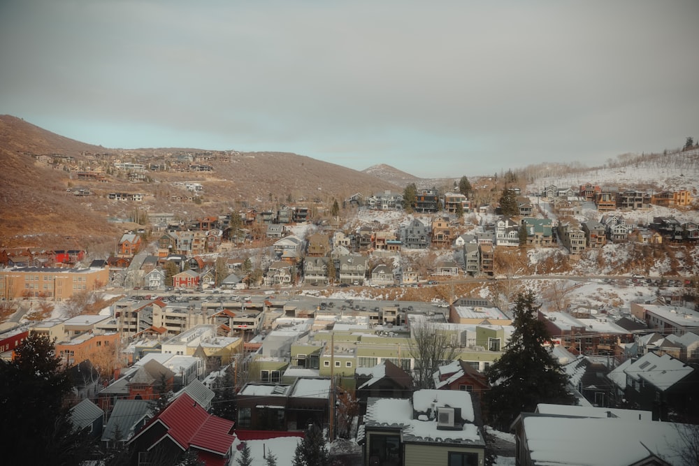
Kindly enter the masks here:
<path id="1" fill-rule="evenodd" d="M 410 356 L 415 359 L 412 381 L 416 389 L 434 388 L 432 375 L 440 365 L 456 358 L 457 345 L 452 335 L 438 322 L 422 321 L 412 326 Z"/>

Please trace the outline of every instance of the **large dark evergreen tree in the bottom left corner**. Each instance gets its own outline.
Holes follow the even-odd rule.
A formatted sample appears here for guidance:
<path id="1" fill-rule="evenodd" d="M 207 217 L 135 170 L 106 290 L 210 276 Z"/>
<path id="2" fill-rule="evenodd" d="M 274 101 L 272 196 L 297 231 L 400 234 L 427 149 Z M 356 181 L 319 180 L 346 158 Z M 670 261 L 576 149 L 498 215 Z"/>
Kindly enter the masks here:
<path id="1" fill-rule="evenodd" d="M 0 360 L 3 464 L 78 465 L 89 458 L 91 443 L 75 432 L 66 404 L 72 385 L 48 337 L 31 333 L 13 361 Z"/>

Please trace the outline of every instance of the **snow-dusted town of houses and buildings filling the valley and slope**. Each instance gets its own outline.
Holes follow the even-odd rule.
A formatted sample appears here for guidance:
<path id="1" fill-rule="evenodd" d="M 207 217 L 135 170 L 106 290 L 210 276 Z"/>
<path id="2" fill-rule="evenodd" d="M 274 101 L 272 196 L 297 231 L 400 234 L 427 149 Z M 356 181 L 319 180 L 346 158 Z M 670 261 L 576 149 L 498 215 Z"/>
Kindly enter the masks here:
<path id="1" fill-rule="evenodd" d="M 129 464 L 157 446 L 233 465 L 253 439 L 288 449 L 318 425 L 347 465 L 484 465 L 493 452 L 534 465 L 555 436 L 532 432 L 554 420 L 577 442 L 610 430 L 655 445 L 618 464 L 678 464 L 668 432 L 699 422 L 696 201 L 593 183 L 528 191 L 505 187 L 494 205 L 468 190 L 356 193 L 330 216 L 149 212 L 101 258 L 3 248 L 1 356 L 48 337 L 62 367 L 93 374 L 73 379 L 73 424 Z M 625 256 L 612 270 L 610 254 Z M 524 289 L 576 405 L 521 412 L 496 448 L 487 374 Z M 426 386 L 424 328 L 449 348 Z"/>

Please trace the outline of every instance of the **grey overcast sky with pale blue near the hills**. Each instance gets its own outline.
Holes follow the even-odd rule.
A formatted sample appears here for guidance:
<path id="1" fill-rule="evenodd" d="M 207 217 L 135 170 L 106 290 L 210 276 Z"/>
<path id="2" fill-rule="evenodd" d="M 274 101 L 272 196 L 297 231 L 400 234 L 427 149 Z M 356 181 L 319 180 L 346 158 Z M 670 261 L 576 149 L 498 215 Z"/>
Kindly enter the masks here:
<path id="1" fill-rule="evenodd" d="M 699 138 L 699 1 L 0 1 L 0 113 L 104 147 L 363 170 Z"/>

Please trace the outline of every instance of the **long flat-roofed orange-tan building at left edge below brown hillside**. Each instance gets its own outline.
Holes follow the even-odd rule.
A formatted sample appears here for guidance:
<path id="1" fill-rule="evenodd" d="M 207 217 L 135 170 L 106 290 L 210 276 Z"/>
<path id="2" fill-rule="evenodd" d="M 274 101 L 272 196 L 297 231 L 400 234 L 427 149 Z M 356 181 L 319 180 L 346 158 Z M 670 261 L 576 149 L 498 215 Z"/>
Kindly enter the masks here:
<path id="1" fill-rule="evenodd" d="M 108 268 L 16 268 L 0 270 L 0 296 L 67 300 L 78 291 L 94 291 L 109 280 Z"/>

